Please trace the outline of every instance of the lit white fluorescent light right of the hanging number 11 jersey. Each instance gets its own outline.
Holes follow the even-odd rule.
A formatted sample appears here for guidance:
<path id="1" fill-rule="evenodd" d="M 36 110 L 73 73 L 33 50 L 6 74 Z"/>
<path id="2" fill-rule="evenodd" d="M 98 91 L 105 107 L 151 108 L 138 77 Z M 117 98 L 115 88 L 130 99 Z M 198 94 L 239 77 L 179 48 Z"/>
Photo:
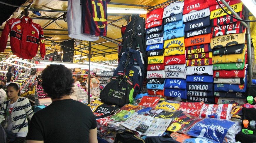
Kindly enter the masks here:
<path id="1" fill-rule="evenodd" d="M 147 14 L 148 10 L 144 8 L 115 8 L 108 7 L 107 13 L 136 13 L 136 14 Z"/>

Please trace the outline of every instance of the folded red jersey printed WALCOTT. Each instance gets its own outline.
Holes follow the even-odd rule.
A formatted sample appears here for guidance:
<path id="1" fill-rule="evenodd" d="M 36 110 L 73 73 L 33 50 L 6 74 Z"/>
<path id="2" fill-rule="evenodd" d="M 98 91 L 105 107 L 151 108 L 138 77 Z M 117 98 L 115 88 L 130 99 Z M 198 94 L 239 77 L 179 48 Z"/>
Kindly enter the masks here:
<path id="1" fill-rule="evenodd" d="M 165 66 L 166 65 L 176 65 L 176 64 L 185 64 L 186 58 L 185 54 L 177 55 L 177 56 L 167 56 L 164 60 Z"/>

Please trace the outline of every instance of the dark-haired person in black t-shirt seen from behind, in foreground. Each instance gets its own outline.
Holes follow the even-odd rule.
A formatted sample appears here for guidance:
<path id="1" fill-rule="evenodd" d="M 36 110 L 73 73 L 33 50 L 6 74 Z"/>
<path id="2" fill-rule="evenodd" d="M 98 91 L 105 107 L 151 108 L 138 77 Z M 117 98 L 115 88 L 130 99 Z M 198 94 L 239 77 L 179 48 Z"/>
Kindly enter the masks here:
<path id="1" fill-rule="evenodd" d="M 72 73 L 64 65 L 50 65 L 43 70 L 42 86 L 52 104 L 32 117 L 27 143 L 98 142 L 91 109 L 69 97 L 73 83 Z"/>

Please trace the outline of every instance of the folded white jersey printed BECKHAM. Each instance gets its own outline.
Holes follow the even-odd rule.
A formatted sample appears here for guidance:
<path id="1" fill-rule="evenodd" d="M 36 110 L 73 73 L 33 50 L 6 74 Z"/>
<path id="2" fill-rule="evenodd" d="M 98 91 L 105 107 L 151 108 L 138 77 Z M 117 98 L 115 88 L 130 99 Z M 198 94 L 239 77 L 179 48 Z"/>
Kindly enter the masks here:
<path id="1" fill-rule="evenodd" d="M 195 19 L 199 19 L 199 18 L 209 16 L 210 14 L 211 13 L 210 13 L 209 8 L 205 8 L 205 9 L 202 9 L 202 10 L 199 10 L 199 11 L 196 11 L 196 12 L 192 12 L 192 13 L 188 13 L 188 14 L 183 15 L 183 21 L 188 22 L 188 21 L 191 21 L 191 20 L 195 20 Z"/>

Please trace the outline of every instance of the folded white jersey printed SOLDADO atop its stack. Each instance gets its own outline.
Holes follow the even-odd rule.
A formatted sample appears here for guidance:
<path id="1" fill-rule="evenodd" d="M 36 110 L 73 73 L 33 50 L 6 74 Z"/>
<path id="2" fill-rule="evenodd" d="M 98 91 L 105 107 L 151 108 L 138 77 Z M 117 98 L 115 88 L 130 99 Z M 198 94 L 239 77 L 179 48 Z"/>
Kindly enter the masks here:
<path id="1" fill-rule="evenodd" d="M 184 7 L 184 3 L 181 1 L 177 1 L 175 3 L 169 4 L 169 6 L 167 6 L 164 9 L 163 18 L 182 13 L 183 7 Z"/>

